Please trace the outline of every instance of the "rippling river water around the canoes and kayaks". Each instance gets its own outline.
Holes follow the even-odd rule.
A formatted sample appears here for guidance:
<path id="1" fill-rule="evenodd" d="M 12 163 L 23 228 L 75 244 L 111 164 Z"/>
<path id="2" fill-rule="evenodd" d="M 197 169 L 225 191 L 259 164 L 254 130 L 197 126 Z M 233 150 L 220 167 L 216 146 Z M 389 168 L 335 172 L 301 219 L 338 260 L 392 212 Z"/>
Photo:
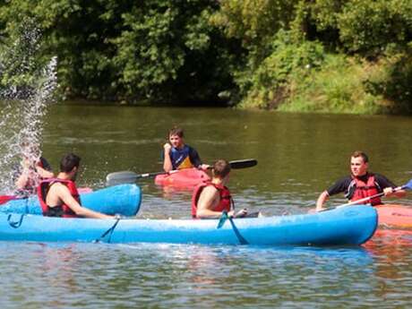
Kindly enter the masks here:
<path id="1" fill-rule="evenodd" d="M 55 105 L 43 154 L 55 169 L 82 157 L 78 183 L 99 188 L 108 173 L 161 170 L 173 125 L 205 163 L 257 159 L 234 170 L 237 207 L 266 215 L 304 213 L 348 174 L 354 150 L 398 185 L 412 178 L 412 118 L 279 114 L 219 108 Z M 189 192 L 139 183 L 141 218 L 188 218 Z M 345 202 L 339 196 L 330 205 Z M 412 205 L 409 196 L 400 201 Z M 360 247 L 0 243 L 2 308 L 408 308 L 412 231 L 380 230 Z"/>

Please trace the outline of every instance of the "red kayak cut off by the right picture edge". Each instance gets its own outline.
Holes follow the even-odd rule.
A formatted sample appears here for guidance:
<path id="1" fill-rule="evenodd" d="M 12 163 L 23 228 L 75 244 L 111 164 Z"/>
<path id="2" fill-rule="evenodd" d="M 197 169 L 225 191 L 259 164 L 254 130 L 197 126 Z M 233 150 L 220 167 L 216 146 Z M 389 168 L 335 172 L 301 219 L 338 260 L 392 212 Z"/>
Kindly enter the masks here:
<path id="1" fill-rule="evenodd" d="M 412 228 L 412 208 L 406 205 L 383 204 L 375 206 L 378 210 L 380 226 Z"/>

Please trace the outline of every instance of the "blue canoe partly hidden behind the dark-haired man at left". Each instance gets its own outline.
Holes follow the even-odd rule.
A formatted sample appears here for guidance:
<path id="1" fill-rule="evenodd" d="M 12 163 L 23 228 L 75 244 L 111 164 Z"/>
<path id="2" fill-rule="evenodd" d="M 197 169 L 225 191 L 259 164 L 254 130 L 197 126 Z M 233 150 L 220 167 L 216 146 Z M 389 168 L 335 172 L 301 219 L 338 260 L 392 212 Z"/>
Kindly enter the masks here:
<path id="1" fill-rule="evenodd" d="M 134 216 L 142 202 L 142 192 L 137 185 L 114 185 L 91 193 L 81 193 L 82 205 L 106 213 Z M 0 205 L 3 213 L 24 213 L 41 215 L 39 199 L 36 195 L 17 199 Z"/>

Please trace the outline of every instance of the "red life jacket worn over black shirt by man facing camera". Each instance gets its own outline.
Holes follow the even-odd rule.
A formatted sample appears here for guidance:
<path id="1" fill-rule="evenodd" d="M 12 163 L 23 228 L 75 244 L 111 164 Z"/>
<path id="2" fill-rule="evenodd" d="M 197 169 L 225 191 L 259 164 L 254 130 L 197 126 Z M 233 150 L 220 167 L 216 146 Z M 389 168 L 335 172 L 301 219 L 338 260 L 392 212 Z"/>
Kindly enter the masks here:
<path id="1" fill-rule="evenodd" d="M 352 178 L 353 180 L 348 187 L 348 194 L 351 194 L 351 196 L 349 196 L 350 202 L 365 199 L 365 197 L 373 196 L 382 192 L 381 187 L 375 182 L 373 174 L 368 175 L 366 183 L 356 177 Z M 379 196 L 363 203 L 372 205 L 382 204 Z"/>

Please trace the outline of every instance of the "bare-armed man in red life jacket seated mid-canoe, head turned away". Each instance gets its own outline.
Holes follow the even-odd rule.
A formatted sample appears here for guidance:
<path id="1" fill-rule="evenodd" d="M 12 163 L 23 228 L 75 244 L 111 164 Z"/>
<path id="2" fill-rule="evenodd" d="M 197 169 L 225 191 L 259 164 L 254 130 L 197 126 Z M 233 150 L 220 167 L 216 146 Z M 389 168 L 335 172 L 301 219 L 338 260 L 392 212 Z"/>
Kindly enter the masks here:
<path id="1" fill-rule="evenodd" d="M 219 159 L 212 168 L 211 181 L 198 185 L 192 197 L 193 219 L 220 218 L 223 211 L 231 217 L 245 217 L 247 210 L 240 210 L 235 214 L 233 200 L 227 189 L 230 164 Z"/>

